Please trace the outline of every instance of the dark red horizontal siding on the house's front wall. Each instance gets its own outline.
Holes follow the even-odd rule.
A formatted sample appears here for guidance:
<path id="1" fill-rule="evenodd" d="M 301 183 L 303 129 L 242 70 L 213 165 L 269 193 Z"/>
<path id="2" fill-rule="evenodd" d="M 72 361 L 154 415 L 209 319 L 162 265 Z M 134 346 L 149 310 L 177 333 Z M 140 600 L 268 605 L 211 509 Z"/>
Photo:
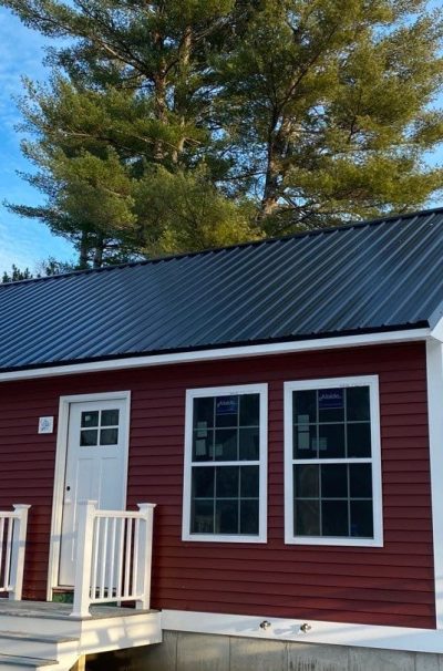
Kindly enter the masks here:
<path id="1" fill-rule="evenodd" d="M 379 374 L 383 548 L 285 546 L 284 381 Z M 269 384 L 268 543 L 183 543 L 185 391 Z M 59 396 L 132 391 L 128 505 L 154 502 L 153 607 L 433 628 L 422 344 L 183 364 L 0 384 L 0 509 L 29 503 L 25 595 L 45 597 Z"/>

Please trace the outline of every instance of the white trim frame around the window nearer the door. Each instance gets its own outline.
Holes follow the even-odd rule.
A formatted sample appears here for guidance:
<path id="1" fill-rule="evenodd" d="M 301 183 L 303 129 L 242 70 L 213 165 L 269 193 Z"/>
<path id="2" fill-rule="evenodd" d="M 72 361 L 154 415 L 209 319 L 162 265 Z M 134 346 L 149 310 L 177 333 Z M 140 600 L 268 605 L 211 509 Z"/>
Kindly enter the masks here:
<path id="1" fill-rule="evenodd" d="M 260 398 L 260 426 L 259 444 L 260 458 L 247 464 L 259 465 L 259 504 L 258 504 L 258 535 L 229 535 L 229 534 L 192 534 L 190 529 L 190 483 L 192 483 L 192 454 L 193 454 L 193 411 L 194 399 L 205 396 L 230 396 L 237 394 L 259 394 Z M 217 462 L 218 463 L 218 462 Z M 245 462 L 246 463 L 246 462 Z M 241 462 L 219 462 L 220 466 L 241 465 Z M 185 464 L 183 482 L 183 528 L 182 540 L 196 540 L 200 543 L 267 543 L 267 505 L 268 505 L 268 385 L 241 384 L 233 386 L 208 386 L 206 389 L 190 389 L 186 391 L 185 417 Z"/>

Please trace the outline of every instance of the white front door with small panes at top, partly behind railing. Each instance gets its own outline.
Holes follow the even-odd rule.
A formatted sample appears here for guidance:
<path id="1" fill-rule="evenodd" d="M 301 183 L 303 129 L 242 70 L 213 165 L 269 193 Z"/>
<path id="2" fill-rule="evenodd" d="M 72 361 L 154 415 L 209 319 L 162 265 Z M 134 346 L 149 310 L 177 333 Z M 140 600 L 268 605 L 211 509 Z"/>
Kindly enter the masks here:
<path id="1" fill-rule="evenodd" d="M 74 584 L 78 503 L 89 499 L 105 510 L 125 508 L 127 414 L 125 399 L 70 403 L 60 586 Z"/>

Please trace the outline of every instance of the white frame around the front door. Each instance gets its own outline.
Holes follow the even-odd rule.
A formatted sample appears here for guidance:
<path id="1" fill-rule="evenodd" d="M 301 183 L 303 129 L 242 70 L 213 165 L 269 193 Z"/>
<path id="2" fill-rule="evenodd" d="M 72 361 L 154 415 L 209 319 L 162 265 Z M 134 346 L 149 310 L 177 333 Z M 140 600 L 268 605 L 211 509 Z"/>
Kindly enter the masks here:
<path id="1" fill-rule="evenodd" d="M 62 517 L 63 517 L 63 499 L 64 499 L 64 478 L 66 471 L 66 455 L 68 455 L 68 431 L 69 431 L 69 419 L 70 407 L 72 403 L 87 403 L 90 401 L 125 401 L 126 405 L 126 458 L 123 469 L 124 484 L 123 493 L 124 500 L 126 500 L 127 494 L 127 463 L 128 463 L 128 447 L 130 447 L 130 427 L 131 427 L 131 392 L 103 392 L 94 394 L 75 394 L 70 396 L 60 396 L 59 403 L 59 421 L 56 432 L 56 447 L 55 447 L 55 468 L 54 468 L 54 491 L 52 497 L 52 518 L 51 518 L 51 538 L 50 538 L 50 554 L 49 554 L 49 567 L 48 567 L 48 585 L 47 585 L 47 599 L 52 600 L 52 591 L 59 582 L 59 565 L 60 565 L 60 548 L 61 548 L 61 534 L 62 534 Z"/>

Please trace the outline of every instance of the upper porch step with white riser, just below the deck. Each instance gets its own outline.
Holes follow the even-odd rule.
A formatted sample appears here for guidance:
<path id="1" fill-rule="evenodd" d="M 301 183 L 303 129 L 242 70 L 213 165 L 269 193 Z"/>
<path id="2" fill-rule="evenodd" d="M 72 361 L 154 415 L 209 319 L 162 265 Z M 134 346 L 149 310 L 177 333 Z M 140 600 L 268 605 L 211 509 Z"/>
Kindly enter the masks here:
<path id="1" fill-rule="evenodd" d="M 76 653 L 78 650 L 79 639 L 71 637 L 0 631 L 1 654 L 60 660 L 63 655 Z"/>

